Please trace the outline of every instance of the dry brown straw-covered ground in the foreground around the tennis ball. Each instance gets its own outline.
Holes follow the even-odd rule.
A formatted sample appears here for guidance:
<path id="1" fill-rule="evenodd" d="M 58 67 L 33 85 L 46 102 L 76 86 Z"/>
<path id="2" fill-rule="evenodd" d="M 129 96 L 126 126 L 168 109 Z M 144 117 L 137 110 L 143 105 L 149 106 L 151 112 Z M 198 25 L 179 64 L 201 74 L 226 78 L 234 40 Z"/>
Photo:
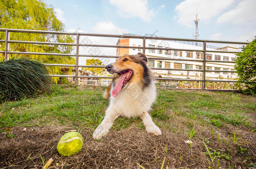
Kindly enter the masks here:
<path id="1" fill-rule="evenodd" d="M 193 139 L 191 155 L 190 144 L 185 144 L 188 137 L 184 134 L 174 134 L 162 129 L 162 136 L 147 134 L 144 129 L 131 126 L 120 131 L 110 131 L 102 141 L 95 141 L 89 129 L 84 129 L 81 134 L 84 137 L 84 146 L 78 154 L 71 157 L 62 157 L 57 153 L 57 142 L 65 134 L 67 128 L 56 126 L 35 126 L 12 128 L 15 134 L 13 139 L 8 139 L 0 133 L 0 168 L 42 168 L 42 158 L 45 163 L 52 158 L 49 168 L 57 169 L 139 169 L 140 164 L 145 169 L 160 169 L 165 158 L 164 169 L 206 169 L 211 164 L 218 168 L 218 159 L 211 163 L 200 137 Z M 206 139 L 211 141 L 209 147 L 217 147 L 219 151 L 227 149 L 227 144 L 217 141 L 205 132 L 204 129 L 196 129 Z M 229 131 L 227 131 L 229 132 Z M 232 131 L 230 131 L 232 132 Z M 246 138 L 248 153 L 251 161 L 256 161 L 256 137 L 255 134 L 241 130 L 237 132 L 242 138 Z M 248 135 L 250 134 L 250 135 Z M 222 147 L 220 149 L 220 147 Z M 232 161 L 221 160 L 219 168 L 248 168 L 242 161 L 245 155 L 239 154 L 230 144 L 230 157 Z M 231 167 L 232 166 L 232 167 Z"/>

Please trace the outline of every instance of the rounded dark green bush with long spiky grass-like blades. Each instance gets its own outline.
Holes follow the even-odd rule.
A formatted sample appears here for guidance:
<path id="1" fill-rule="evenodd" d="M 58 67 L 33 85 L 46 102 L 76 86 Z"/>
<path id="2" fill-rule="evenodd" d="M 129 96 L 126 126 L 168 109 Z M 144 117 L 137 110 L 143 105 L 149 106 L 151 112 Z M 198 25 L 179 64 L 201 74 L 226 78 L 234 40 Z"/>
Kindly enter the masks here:
<path id="1" fill-rule="evenodd" d="M 51 78 L 45 66 L 28 58 L 0 62 L 0 101 L 18 100 L 47 91 Z"/>

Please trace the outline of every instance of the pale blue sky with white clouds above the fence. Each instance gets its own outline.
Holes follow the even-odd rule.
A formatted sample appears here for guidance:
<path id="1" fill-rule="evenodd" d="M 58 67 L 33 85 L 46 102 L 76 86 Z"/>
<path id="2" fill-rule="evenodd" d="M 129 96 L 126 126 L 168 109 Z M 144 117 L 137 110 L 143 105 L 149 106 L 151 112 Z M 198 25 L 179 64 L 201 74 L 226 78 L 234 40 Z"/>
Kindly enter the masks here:
<path id="1" fill-rule="evenodd" d="M 256 35 L 256 0 L 46 0 L 66 31 L 251 41 Z"/>

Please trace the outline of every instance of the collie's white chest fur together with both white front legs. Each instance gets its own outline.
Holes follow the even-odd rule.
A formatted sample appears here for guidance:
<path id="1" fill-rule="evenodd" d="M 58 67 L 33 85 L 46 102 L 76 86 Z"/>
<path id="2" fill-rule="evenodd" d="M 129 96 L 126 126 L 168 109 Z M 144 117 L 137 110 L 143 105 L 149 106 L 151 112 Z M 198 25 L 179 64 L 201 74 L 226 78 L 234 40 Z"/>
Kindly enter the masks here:
<path id="1" fill-rule="evenodd" d="M 101 139 L 102 136 L 105 136 L 118 116 L 140 117 L 147 132 L 161 135 L 161 130 L 154 124 L 149 115 L 149 110 L 155 99 L 154 82 L 144 89 L 139 89 L 137 85 L 130 84 L 123 88 L 117 97 L 110 96 L 110 105 L 101 124 L 94 130 L 93 138 Z"/>

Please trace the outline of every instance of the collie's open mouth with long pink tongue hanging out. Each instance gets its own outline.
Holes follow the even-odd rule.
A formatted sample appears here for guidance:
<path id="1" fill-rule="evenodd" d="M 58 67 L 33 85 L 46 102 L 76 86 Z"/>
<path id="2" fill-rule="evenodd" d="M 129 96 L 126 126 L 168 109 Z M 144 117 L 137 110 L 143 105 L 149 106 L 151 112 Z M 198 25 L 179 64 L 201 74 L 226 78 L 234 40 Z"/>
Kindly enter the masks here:
<path id="1" fill-rule="evenodd" d="M 118 93 L 121 91 L 121 89 L 131 79 L 133 71 L 131 71 L 131 70 L 124 70 L 124 71 L 120 71 L 118 74 L 119 74 L 120 77 L 118 78 L 118 81 L 115 83 L 115 87 L 112 90 L 112 96 L 113 97 L 118 96 Z"/>

